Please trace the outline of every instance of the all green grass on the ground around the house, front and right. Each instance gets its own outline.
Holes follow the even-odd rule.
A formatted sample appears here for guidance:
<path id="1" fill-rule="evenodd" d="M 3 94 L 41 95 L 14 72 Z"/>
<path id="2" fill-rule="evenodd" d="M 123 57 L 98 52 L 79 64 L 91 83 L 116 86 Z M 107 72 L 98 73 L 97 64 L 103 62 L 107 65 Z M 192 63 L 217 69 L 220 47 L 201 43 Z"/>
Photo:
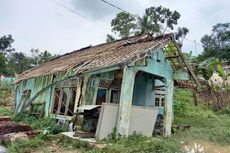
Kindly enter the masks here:
<path id="1" fill-rule="evenodd" d="M 0 109 L 1 110 L 1 109 Z M 4 112 L 0 111 L 1 113 Z M 7 111 L 6 111 L 7 113 Z M 230 145 L 230 107 L 214 112 L 205 103 L 199 103 L 199 106 L 193 106 L 192 92 L 187 89 L 176 89 L 174 104 L 174 123 L 173 125 L 190 125 L 191 128 L 185 130 L 174 130 L 169 138 L 154 136 L 147 138 L 138 134 L 133 134 L 128 138 L 115 138 L 114 133 L 103 143 L 108 146 L 102 150 L 93 148 L 86 142 L 71 140 L 62 135 L 41 135 L 30 139 L 9 143 L 9 152 L 30 152 L 46 151 L 50 143 L 54 143 L 61 152 L 78 151 L 88 153 L 175 153 L 182 152 L 182 144 L 189 144 L 191 141 L 203 140 L 213 142 L 216 145 Z M 50 118 L 35 119 L 29 116 L 14 116 L 15 121 L 31 124 L 34 129 L 40 129 L 43 132 L 49 131 L 48 134 L 54 134 L 62 131 L 62 127 L 54 124 Z M 56 127 L 57 126 L 57 127 Z M 183 144 L 183 145 L 184 145 Z"/>

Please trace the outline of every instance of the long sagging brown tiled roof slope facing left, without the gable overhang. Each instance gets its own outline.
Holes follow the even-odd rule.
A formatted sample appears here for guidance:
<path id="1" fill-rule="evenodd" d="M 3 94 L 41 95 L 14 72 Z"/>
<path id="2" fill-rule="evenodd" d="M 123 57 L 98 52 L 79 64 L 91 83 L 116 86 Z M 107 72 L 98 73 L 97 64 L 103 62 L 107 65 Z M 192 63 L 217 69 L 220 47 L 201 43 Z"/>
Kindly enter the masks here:
<path id="1" fill-rule="evenodd" d="M 125 64 L 145 55 L 146 50 L 150 48 L 163 47 L 170 40 L 171 34 L 155 38 L 144 35 L 86 47 L 21 73 L 17 77 L 17 82 L 32 77 L 66 71 L 70 68 L 74 68 L 77 73 L 84 73 L 112 65 Z"/>

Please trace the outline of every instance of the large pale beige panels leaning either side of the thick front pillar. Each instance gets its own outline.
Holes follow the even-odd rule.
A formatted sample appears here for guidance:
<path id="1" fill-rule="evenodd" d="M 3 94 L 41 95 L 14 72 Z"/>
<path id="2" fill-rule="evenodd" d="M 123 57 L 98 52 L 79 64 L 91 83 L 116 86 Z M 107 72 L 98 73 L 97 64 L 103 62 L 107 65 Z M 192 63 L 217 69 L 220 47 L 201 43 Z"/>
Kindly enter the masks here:
<path id="1" fill-rule="evenodd" d="M 118 108 L 118 104 L 104 103 L 102 105 L 95 135 L 97 139 L 102 140 L 115 130 L 118 119 Z M 136 132 L 144 136 L 152 136 L 157 114 L 158 109 L 153 107 L 132 106 L 129 135 Z"/>

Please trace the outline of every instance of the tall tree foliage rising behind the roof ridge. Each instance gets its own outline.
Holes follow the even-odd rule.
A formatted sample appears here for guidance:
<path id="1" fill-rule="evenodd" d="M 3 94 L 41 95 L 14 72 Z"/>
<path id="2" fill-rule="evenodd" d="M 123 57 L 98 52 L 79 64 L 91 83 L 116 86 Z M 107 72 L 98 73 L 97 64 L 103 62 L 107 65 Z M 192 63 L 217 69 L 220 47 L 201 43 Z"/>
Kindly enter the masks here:
<path id="1" fill-rule="evenodd" d="M 173 30 L 180 16 L 179 12 L 171 11 L 162 6 L 149 7 L 145 9 L 142 17 L 127 12 L 118 13 L 111 21 L 111 27 L 112 31 L 115 34 L 118 33 L 121 38 L 147 33 L 159 35 L 165 33 L 168 28 Z M 183 27 L 178 28 L 177 31 L 176 40 L 182 44 L 189 30 Z M 111 38 L 111 35 L 107 35 L 107 40 L 109 38 Z"/>

